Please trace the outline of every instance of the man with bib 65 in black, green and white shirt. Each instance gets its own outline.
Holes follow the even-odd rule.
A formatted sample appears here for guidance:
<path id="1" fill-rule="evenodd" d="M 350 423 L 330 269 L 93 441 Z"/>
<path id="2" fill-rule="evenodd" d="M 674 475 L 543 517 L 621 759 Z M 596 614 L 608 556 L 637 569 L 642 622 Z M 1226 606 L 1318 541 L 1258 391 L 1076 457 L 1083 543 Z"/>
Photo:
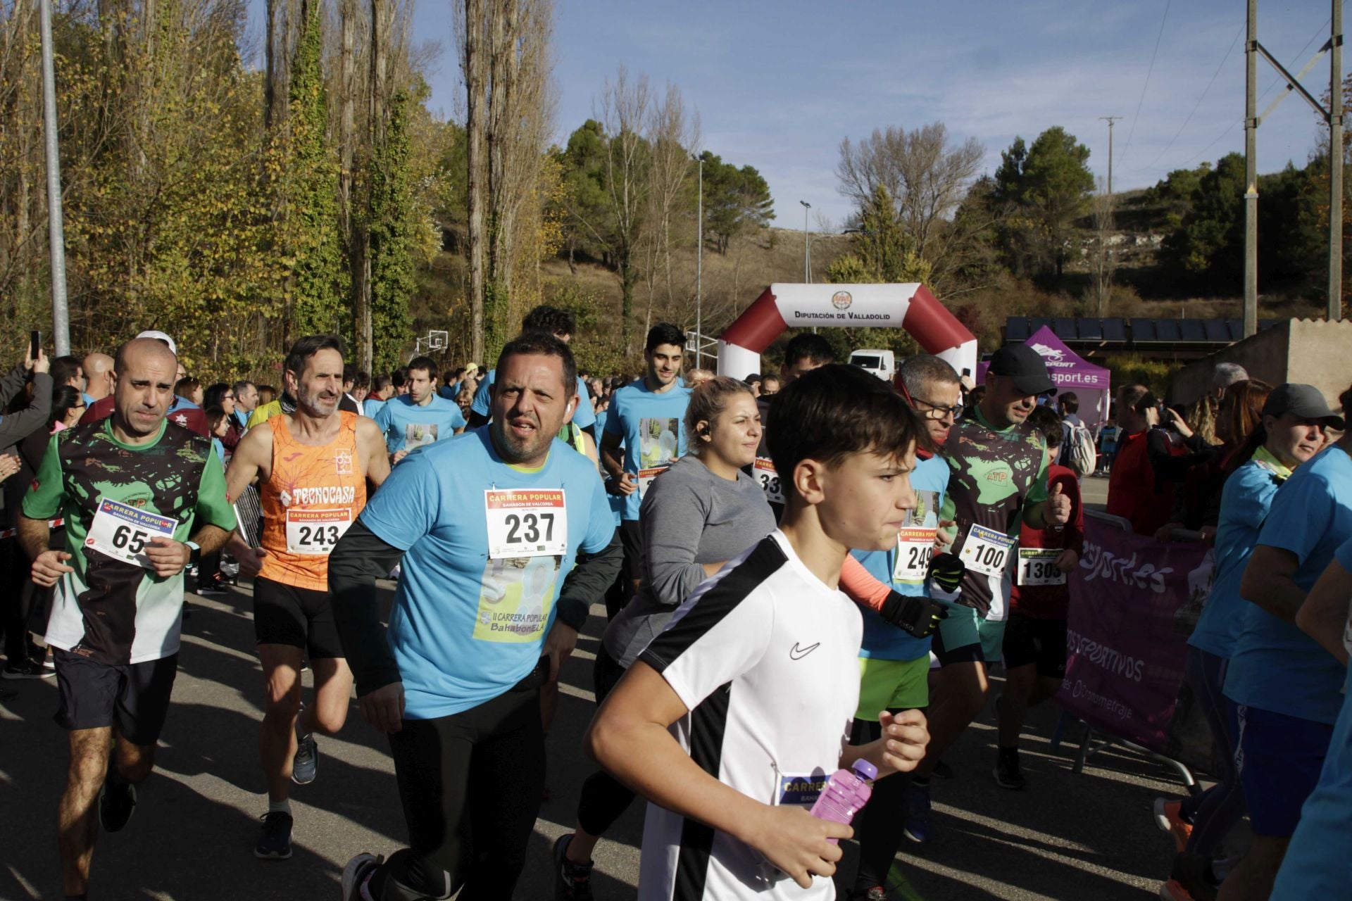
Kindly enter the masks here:
<path id="1" fill-rule="evenodd" d="M 158 340 L 118 350 L 112 415 L 53 436 L 19 520 L 32 581 L 58 586 L 46 642 L 57 723 L 70 732 L 58 808 L 69 898 L 88 892 L 97 824 L 127 824 L 154 766 L 177 670 L 183 570 L 235 527 L 211 443 L 165 421 L 176 362 Z M 47 550 L 55 516 L 73 554 Z"/>

